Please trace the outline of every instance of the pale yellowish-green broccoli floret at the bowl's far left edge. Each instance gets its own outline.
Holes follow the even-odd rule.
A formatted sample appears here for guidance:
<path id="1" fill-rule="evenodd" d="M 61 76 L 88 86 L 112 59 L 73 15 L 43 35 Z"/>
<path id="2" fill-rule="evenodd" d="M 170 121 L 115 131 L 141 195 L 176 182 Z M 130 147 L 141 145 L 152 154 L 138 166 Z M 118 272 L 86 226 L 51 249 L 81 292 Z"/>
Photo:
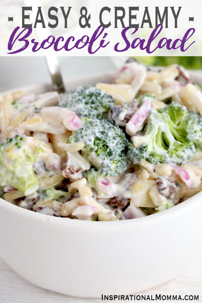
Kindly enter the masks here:
<path id="1" fill-rule="evenodd" d="M 24 138 L 16 135 L 0 144 L 0 185 L 11 185 L 25 196 L 38 189 L 38 180 L 32 165 L 43 152 L 36 147 L 37 155 L 24 143 Z"/>

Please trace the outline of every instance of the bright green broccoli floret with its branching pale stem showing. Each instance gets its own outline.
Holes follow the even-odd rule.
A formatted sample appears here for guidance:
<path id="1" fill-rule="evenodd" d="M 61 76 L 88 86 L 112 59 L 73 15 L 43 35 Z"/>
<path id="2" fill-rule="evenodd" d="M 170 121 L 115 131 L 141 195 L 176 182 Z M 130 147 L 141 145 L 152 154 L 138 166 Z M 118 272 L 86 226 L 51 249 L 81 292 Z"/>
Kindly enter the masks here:
<path id="1" fill-rule="evenodd" d="M 147 140 L 136 147 L 130 143 L 128 158 L 134 164 L 143 160 L 182 164 L 190 160 L 195 147 L 194 142 L 187 138 L 187 113 L 184 106 L 178 106 L 175 102 L 165 107 L 164 112 L 151 110 L 144 134 Z"/>

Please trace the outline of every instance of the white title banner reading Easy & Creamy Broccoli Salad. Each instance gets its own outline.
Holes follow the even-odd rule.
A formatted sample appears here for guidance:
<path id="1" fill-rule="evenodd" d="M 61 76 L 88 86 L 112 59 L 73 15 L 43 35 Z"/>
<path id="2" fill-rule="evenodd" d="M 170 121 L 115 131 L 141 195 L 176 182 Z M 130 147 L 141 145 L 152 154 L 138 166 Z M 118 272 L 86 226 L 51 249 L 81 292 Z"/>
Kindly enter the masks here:
<path id="1" fill-rule="evenodd" d="M 0 55 L 202 55 L 199 0 L 6 0 L 1 10 Z"/>

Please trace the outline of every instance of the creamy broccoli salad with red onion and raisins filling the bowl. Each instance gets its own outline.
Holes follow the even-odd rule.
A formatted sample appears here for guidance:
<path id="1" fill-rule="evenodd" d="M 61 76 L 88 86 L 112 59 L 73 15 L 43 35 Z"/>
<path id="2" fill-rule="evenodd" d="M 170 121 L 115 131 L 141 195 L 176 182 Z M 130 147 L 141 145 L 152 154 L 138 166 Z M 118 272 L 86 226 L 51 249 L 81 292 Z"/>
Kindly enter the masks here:
<path id="1" fill-rule="evenodd" d="M 0 198 L 71 219 L 152 215 L 202 190 L 202 75 L 128 60 L 111 83 L 0 95 Z"/>

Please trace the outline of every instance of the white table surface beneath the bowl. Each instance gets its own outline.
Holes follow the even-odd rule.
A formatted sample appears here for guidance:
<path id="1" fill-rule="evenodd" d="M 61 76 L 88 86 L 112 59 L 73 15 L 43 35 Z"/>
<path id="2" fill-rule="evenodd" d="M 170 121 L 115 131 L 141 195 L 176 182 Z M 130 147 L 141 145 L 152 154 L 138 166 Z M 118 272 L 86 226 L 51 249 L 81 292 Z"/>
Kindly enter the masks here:
<path id="1" fill-rule="evenodd" d="M 184 274 L 158 287 L 143 291 L 140 295 L 199 295 L 202 302 L 202 263 L 186 270 Z M 137 294 L 136 294 L 137 295 Z M 0 302 L 1 303 L 97 303 L 95 298 L 75 298 L 48 291 L 32 285 L 16 274 L 0 259 Z M 123 302 L 123 301 L 121 301 Z M 139 301 L 142 302 L 142 301 Z M 152 301 L 154 302 L 154 301 Z M 164 301 L 166 302 L 166 301 Z M 172 302 L 172 301 L 169 301 Z M 195 302 L 195 301 L 186 301 Z"/>

